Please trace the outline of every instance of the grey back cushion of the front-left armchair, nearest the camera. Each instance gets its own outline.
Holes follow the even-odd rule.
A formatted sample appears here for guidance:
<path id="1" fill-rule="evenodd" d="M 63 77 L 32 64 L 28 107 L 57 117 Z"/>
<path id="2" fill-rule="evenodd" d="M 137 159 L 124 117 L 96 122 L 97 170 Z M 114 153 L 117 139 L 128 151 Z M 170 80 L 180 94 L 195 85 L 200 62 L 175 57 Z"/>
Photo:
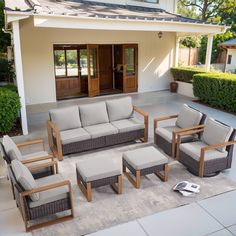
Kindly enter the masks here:
<path id="1" fill-rule="evenodd" d="M 38 187 L 37 183 L 34 180 L 34 177 L 25 165 L 23 165 L 18 160 L 13 160 L 11 162 L 11 165 L 17 182 L 20 183 L 24 190 L 32 190 Z M 30 198 L 32 201 L 38 201 L 39 193 L 31 194 Z"/>

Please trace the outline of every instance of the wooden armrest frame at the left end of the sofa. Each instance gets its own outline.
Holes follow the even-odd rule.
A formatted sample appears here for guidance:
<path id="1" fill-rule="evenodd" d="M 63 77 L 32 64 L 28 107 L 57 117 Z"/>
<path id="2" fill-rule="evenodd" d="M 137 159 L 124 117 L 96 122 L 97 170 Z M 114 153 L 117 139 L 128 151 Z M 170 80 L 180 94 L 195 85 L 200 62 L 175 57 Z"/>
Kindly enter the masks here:
<path id="1" fill-rule="evenodd" d="M 55 123 L 48 120 L 47 129 L 48 129 L 49 147 L 52 153 L 58 158 L 59 161 L 61 161 L 63 159 L 63 153 L 62 153 L 61 136 L 60 136 L 59 128 L 57 127 Z M 55 137 L 56 143 L 57 143 L 56 146 L 54 145 L 54 142 L 53 142 L 53 131 L 55 132 L 55 135 L 56 135 Z"/>

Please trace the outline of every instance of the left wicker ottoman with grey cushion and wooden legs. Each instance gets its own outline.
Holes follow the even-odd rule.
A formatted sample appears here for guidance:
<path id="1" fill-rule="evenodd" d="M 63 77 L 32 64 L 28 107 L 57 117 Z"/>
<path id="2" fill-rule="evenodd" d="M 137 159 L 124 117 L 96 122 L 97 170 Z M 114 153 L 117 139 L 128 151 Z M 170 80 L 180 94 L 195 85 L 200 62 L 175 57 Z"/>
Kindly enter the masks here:
<path id="1" fill-rule="evenodd" d="M 116 193 L 122 193 L 120 166 L 109 158 L 78 161 L 76 174 L 79 188 L 89 202 L 92 200 L 92 188 L 111 185 Z"/>

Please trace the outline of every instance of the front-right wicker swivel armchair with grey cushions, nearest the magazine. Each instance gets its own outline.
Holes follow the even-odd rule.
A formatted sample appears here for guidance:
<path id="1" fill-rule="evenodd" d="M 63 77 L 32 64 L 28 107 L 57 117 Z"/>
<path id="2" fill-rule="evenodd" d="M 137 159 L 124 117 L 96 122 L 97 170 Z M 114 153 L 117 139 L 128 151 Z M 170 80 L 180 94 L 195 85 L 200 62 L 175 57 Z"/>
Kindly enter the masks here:
<path id="1" fill-rule="evenodd" d="M 200 134 L 194 142 L 182 143 L 188 135 Z M 208 119 L 198 130 L 177 134 L 176 159 L 200 177 L 210 177 L 231 168 L 236 130 L 223 123 Z"/>

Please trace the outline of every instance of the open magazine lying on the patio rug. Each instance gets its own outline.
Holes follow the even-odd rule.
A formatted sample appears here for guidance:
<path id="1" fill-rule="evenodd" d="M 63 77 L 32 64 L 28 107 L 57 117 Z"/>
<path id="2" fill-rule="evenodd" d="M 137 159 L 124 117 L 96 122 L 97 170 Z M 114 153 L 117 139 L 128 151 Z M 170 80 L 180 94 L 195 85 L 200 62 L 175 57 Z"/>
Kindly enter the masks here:
<path id="1" fill-rule="evenodd" d="M 183 196 L 188 197 L 200 192 L 200 185 L 182 181 L 176 184 L 173 188 L 174 191 L 180 192 Z"/>

